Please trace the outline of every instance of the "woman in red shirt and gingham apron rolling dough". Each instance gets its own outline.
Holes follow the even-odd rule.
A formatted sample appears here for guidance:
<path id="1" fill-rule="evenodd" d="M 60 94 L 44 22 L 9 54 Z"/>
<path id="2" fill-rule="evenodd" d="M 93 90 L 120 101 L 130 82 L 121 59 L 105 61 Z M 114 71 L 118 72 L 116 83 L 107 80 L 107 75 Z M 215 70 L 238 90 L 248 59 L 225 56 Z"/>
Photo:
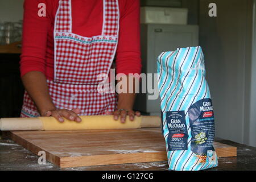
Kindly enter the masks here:
<path id="1" fill-rule="evenodd" d="M 117 73 L 140 73 L 139 40 L 139 0 L 25 0 L 21 117 L 81 122 L 79 115 L 113 114 L 133 121 L 140 115 L 135 94 L 99 93 L 97 76 L 109 74 L 115 54 Z"/>

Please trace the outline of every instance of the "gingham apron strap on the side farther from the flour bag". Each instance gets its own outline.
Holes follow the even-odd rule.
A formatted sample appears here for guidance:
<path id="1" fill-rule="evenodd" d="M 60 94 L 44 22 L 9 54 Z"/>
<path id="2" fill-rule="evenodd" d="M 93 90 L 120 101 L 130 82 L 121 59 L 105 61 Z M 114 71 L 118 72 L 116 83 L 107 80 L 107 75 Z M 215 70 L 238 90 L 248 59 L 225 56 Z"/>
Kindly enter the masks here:
<path id="1" fill-rule="evenodd" d="M 72 32 L 71 0 L 60 0 L 55 15 L 55 32 Z"/>

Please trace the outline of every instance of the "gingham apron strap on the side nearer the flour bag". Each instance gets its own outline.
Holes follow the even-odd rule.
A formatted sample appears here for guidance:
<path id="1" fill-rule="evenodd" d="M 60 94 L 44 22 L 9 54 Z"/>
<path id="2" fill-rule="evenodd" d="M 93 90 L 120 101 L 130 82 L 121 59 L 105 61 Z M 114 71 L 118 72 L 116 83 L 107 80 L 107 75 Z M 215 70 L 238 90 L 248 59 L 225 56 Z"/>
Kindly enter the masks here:
<path id="1" fill-rule="evenodd" d="M 118 0 L 104 0 L 104 19 L 102 35 L 118 36 L 119 31 L 119 6 Z"/>

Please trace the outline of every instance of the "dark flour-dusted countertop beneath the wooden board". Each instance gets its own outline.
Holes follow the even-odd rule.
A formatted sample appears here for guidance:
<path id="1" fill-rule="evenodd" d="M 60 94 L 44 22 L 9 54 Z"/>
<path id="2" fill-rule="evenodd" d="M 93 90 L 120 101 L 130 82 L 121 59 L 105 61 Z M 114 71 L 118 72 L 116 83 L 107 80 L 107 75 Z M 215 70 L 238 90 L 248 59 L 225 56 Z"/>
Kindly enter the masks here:
<path id="1" fill-rule="evenodd" d="M 237 157 L 219 158 L 218 167 L 208 169 L 210 171 L 223 170 L 255 170 L 256 171 L 256 148 L 246 146 L 224 139 L 216 139 L 217 142 L 229 144 L 237 147 Z M 0 170 L 168 170 L 167 162 L 150 162 L 150 163 L 133 163 L 133 164 L 115 164 L 108 166 L 91 166 L 91 167 L 73 167 L 59 168 L 49 162 L 46 164 L 38 164 L 38 156 L 24 149 L 19 144 L 13 142 L 9 138 L 0 135 Z"/>

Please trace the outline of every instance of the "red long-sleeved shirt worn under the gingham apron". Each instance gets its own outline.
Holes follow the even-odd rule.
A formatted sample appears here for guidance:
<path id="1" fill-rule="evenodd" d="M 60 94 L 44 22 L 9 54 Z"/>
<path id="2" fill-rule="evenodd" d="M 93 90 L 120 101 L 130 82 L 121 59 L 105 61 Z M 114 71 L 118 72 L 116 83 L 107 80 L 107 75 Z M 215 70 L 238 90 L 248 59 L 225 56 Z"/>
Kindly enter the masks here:
<path id="1" fill-rule="evenodd" d="M 116 52 L 117 73 L 141 73 L 139 0 L 119 0 L 119 41 Z M 39 17 L 39 3 L 45 3 L 46 16 Z M 81 36 L 100 35 L 103 0 L 72 0 L 72 31 Z M 53 79 L 53 28 L 59 0 L 25 0 L 23 16 L 21 76 L 30 71 L 43 72 Z"/>

